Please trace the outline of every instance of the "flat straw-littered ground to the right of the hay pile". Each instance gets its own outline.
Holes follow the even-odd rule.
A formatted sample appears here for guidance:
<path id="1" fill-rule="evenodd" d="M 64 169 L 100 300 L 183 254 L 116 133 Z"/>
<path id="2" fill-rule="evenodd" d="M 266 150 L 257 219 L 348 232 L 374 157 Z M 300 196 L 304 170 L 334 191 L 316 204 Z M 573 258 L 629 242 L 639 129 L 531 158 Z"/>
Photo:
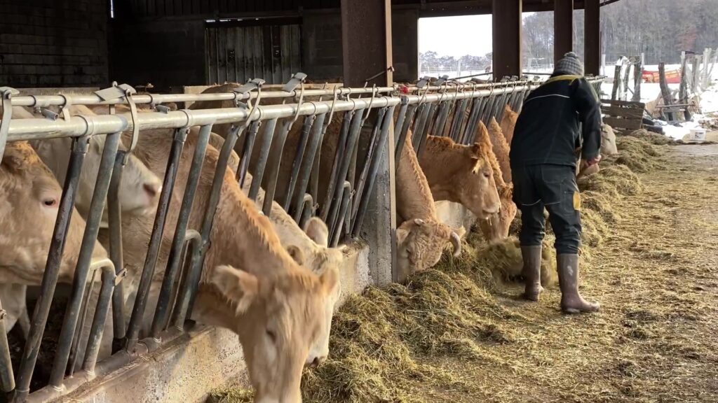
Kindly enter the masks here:
<path id="1" fill-rule="evenodd" d="M 584 256 L 582 293 L 601 312 L 563 316 L 558 290 L 524 303 L 520 287 L 501 289 L 526 318 L 515 341 L 491 346 L 490 364 L 433 362 L 480 387 L 424 390 L 426 401 L 718 402 L 718 146 L 664 149 Z"/>

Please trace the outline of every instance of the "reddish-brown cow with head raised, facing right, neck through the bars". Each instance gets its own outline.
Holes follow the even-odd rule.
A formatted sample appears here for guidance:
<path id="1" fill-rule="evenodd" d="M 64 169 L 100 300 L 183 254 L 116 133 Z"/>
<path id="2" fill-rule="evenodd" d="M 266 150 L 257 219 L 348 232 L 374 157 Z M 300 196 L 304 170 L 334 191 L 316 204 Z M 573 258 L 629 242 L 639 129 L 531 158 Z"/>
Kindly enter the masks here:
<path id="1" fill-rule="evenodd" d="M 435 201 L 463 204 L 478 219 L 499 212 L 500 202 L 487 153 L 480 143 L 463 146 L 451 138 L 426 136 L 419 166 Z"/>

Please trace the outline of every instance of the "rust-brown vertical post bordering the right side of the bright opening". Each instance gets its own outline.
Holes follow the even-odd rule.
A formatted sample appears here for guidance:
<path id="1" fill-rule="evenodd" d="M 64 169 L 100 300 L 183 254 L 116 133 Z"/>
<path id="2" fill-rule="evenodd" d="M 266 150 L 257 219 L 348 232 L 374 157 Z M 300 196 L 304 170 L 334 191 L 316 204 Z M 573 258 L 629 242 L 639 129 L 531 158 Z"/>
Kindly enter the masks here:
<path id="1" fill-rule="evenodd" d="M 521 0 L 493 0 L 493 72 L 521 75 Z"/>

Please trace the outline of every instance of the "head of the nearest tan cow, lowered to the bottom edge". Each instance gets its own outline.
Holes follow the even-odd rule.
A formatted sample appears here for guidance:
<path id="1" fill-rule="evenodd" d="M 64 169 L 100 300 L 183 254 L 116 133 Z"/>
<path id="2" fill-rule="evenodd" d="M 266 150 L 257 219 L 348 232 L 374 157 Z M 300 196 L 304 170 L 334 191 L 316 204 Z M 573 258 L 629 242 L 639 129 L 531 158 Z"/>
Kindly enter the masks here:
<path id="1" fill-rule="evenodd" d="M 210 283 L 234 308 L 249 379 L 258 403 L 299 403 L 302 368 L 312 344 L 327 331 L 325 300 L 336 272 L 299 269 L 258 277 L 215 267 Z"/>

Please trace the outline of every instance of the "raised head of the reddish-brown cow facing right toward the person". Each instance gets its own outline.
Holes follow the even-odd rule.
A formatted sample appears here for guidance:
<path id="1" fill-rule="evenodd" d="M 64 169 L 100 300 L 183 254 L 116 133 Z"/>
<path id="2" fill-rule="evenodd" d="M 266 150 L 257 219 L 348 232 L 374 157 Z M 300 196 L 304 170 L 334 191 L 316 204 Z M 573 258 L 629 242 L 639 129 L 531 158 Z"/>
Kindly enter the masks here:
<path id="1" fill-rule="evenodd" d="M 496 190 L 494 172 L 487 156 L 486 147 L 480 143 L 466 148 L 469 163 L 458 172 L 461 204 L 478 219 L 487 219 L 499 212 L 501 201 Z"/>

